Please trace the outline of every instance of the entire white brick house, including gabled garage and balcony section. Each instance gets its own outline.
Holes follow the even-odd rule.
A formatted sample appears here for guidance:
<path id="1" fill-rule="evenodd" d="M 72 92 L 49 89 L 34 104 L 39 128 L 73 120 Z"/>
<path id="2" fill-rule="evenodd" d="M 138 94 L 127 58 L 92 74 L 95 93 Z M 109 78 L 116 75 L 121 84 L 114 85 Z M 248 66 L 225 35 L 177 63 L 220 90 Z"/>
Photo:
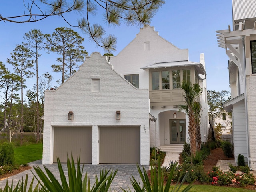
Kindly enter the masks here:
<path id="1" fill-rule="evenodd" d="M 182 81 L 203 88 L 198 101 L 205 142 L 204 54 L 200 62 L 189 61 L 188 49 L 175 47 L 153 27 L 140 29 L 110 62 L 99 53 L 91 54 L 59 88 L 45 92 L 43 164 L 56 162 L 57 156 L 66 162 L 71 151 L 75 158 L 81 154 L 83 163 L 141 165 L 149 164 L 150 146 L 181 152 L 189 141 L 188 116 L 178 110 L 185 104 Z"/>

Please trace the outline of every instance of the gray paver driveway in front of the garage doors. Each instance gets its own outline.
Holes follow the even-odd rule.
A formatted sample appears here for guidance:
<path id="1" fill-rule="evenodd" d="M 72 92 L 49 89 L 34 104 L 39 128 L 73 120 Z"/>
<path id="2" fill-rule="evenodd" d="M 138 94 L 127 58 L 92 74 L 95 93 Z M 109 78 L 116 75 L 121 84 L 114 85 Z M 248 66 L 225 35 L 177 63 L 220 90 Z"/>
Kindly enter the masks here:
<path id="1" fill-rule="evenodd" d="M 43 168 L 42 165 L 42 160 L 38 160 L 35 162 L 31 162 L 29 164 L 29 166 L 39 166 L 40 168 Z M 81 165 L 80 165 L 81 166 Z M 60 180 L 60 175 L 58 172 L 58 165 L 57 164 L 50 164 L 50 165 L 46 165 L 46 167 L 55 175 L 56 178 L 58 178 L 58 180 Z M 67 169 L 67 165 L 66 164 L 62 164 L 62 168 L 64 170 L 64 173 L 67 175 L 68 174 L 68 169 Z M 142 166 L 141 166 L 142 168 Z M 149 167 L 147 166 L 146 169 L 148 169 Z M 112 182 L 111 185 L 111 189 L 115 190 L 115 191 L 121 191 L 120 187 L 127 189 L 128 187 L 130 187 L 130 189 L 132 189 L 132 185 L 130 182 L 130 178 L 132 178 L 132 176 L 134 176 L 134 178 L 136 178 L 137 180 L 140 180 L 140 176 L 137 170 L 136 165 L 90 165 L 90 164 L 85 164 L 84 165 L 84 174 L 87 172 L 88 177 L 90 178 L 90 183 L 91 185 L 95 182 L 95 176 L 97 174 L 97 176 L 100 176 L 100 170 L 105 170 L 105 169 L 113 169 L 116 170 L 118 169 L 118 172 Z M 35 173 L 34 168 L 31 169 L 32 172 Z M 28 174 L 28 180 L 30 183 L 32 178 L 33 178 L 33 174 L 31 173 L 30 170 L 26 170 L 24 172 L 21 172 L 19 174 L 16 174 L 14 176 L 11 176 L 10 178 L 4 179 L 2 181 L 0 181 L 0 188 L 4 188 L 4 186 L 6 185 L 6 180 L 8 180 L 8 183 L 11 184 L 12 180 L 14 185 L 17 184 L 18 180 L 20 180 L 22 177 L 25 178 L 26 174 Z M 84 175 L 83 175 L 84 176 Z M 35 182 L 35 181 L 34 181 Z"/>

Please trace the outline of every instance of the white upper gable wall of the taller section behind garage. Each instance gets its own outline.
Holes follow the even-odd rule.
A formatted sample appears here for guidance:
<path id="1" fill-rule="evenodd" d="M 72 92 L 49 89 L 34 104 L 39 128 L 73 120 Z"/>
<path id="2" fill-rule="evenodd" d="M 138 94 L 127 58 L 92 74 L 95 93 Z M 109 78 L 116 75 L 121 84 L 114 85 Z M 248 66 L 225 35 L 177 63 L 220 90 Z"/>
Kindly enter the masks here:
<path id="1" fill-rule="evenodd" d="M 140 33 L 110 63 L 121 76 L 140 75 L 140 88 L 147 88 L 148 71 L 140 69 L 156 62 L 188 60 L 188 49 L 179 49 L 154 30 L 154 27 L 141 28 Z"/>

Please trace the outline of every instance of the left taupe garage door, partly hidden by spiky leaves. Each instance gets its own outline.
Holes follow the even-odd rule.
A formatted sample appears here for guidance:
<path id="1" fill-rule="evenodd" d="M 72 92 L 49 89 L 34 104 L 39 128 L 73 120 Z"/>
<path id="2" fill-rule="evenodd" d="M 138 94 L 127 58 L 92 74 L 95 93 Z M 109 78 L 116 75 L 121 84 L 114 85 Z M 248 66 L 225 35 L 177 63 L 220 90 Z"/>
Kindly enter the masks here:
<path id="1" fill-rule="evenodd" d="M 67 154 L 76 162 L 92 163 L 92 127 L 54 127 L 53 162 L 67 162 Z"/>

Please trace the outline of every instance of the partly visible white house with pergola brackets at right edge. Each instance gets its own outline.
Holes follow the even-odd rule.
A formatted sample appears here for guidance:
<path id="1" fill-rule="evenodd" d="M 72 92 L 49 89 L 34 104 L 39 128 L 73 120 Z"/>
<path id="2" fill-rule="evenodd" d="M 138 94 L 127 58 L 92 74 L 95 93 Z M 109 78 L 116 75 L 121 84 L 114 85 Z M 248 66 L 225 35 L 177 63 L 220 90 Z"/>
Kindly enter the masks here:
<path id="1" fill-rule="evenodd" d="M 224 104 L 232 111 L 234 155 L 244 155 L 256 170 L 256 1 L 232 0 L 233 30 L 216 31 L 218 44 L 225 48 L 228 61 L 231 100 Z"/>

